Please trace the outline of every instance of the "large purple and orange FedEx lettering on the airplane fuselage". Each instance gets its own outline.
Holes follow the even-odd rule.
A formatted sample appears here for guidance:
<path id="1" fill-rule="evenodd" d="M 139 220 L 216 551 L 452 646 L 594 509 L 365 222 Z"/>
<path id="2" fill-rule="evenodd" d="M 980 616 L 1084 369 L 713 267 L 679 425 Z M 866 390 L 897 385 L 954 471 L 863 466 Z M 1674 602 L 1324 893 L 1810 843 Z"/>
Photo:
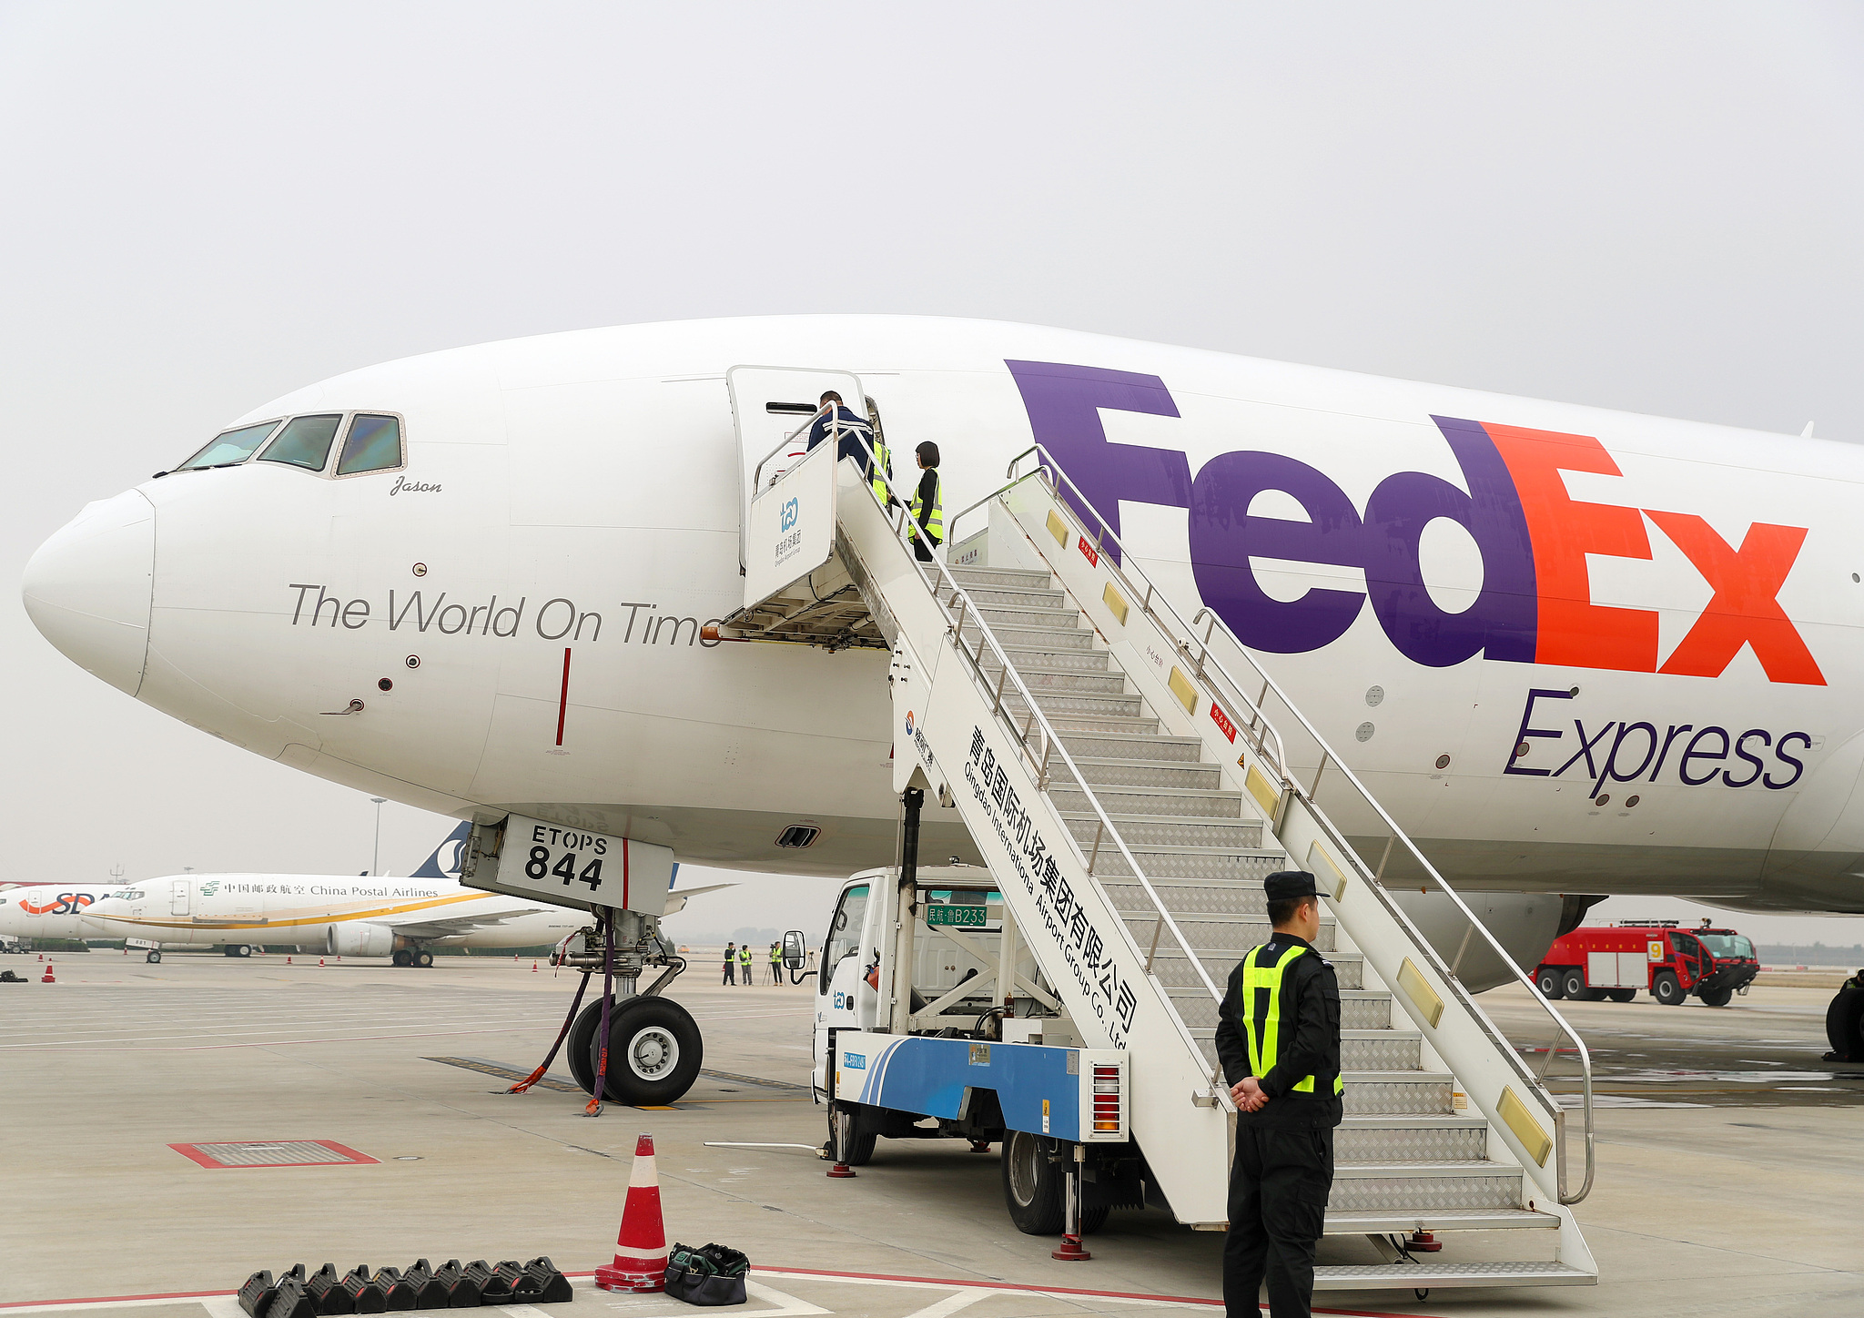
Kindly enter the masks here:
<path id="1" fill-rule="evenodd" d="M 1773 682 L 1825 684 L 1778 604 L 1806 528 L 1754 522 L 1739 542 L 1730 542 L 1694 513 L 1575 500 L 1562 474 L 1622 475 L 1592 436 L 1437 416 L 1432 421 L 1467 488 L 1424 472 L 1396 472 L 1359 509 L 1325 474 L 1282 453 L 1221 453 L 1193 479 L 1180 451 L 1107 442 L 1102 410 L 1178 416 L 1158 377 L 1048 362 L 1008 367 L 1035 438 L 1055 453 L 1115 533 L 1120 500 L 1187 509 L 1199 593 L 1254 649 L 1322 649 L 1370 604 L 1387 639 L 1430 667 L 1480 654 L 1719 677 L 1747 647 Z M 1266 490 L 1294 498 L 1307 520 L 1253 515 L 1251 505 Z M 1439 608 L 1424 583 L 1420 544 L 1437 518 L 1461 526 L 1482 556 L 1482 587 L 1461 611 Z M 1689 559 L 1711 591 L 1666 656 L 1659 654 L 1657 611 L 1594 604 L 1586 563 L 1588 556 L 1650 559 L 1648 526 Z M 1316 587 L 1277 600 L 1262 589 L 1251 559 L 1361 569 L 1366 585 Z"/>

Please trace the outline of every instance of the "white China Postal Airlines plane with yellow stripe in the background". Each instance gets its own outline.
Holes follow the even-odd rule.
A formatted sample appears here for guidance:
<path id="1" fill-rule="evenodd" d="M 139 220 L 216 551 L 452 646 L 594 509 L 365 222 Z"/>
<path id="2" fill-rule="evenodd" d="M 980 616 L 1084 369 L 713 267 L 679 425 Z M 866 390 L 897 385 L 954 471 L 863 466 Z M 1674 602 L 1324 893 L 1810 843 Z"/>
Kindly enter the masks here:
<path id="1" fill-rule="evenodd" d="M 252 956 L 285 943 L 336 956 L 391 956 L 432 966 L 431 947 L 541 947 L 582 921 L 546 902 L 460 887 L 460 824 L 406 878 L 332 874 L 171 874 L 91 902 L 91 938 L 130 938 L 162 960 L 162 947 L 222 947 Z"/>

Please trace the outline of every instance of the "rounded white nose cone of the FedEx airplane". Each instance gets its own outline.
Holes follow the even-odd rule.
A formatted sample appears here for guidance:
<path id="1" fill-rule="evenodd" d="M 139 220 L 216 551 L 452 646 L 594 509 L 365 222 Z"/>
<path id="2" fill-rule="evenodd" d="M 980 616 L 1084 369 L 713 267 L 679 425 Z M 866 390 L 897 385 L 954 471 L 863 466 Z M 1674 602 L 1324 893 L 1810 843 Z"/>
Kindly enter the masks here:
<path id="1" fill-rule="evenodd" d="M 88 503 L 26 563 L 32 625 L 88 673 L 130 695 L 149 652 L 155 507 L 136 490 Z"/>

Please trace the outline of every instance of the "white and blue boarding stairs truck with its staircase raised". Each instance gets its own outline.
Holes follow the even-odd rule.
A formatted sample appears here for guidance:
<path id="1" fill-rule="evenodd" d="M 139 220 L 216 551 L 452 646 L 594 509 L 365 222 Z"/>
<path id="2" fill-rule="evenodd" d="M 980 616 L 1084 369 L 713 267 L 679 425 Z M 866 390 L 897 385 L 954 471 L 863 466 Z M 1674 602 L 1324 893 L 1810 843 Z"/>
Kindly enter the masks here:
<path id="1" fill-rule="evenodd" d="M 1141 1199 L 1223 1230 L 1236 1109 L 1217 1007 L 1268 936 L 1264 874 L 1292 865 L 1320 882 L 1316 947 L 1342 990 L 1325 1230 L 1383 1260 L 1323 1266 L 1316 1286 L 1594 1283 L 1571 1212 L 1594 1173 L 1583 1042 L 1525 975 L 1547 1023 L 1530 1048 L 1474 1003 L 1456 975 L 1471 945 L 1514 962 L 1221 619 L 1184 621 L 1040 447 L 949 522 L 984 522 L 954 567 L 915 561 L 906 481 L 876 494 L 835 444 L 764 481 L 790 447 L 768 418 L 822 388 L 863 397 L 856 377 L 734 367 L 727 384 L 746 585 L 718 636 L 891 654 L 900 863 L 844 889 L 818 981 L 835 1156 L 876 1135 L 1001 1139 L 1025 1230 L 1077 1234 Z M 921 802 L 962 817 L 988 874 L 919 869 Z M 1448 962 L 1387 891 L 1400 876 L 1467 917 Z M 1556 1057 L 1577 1064 L 1573 1113 L 1545 1083 Z"/>

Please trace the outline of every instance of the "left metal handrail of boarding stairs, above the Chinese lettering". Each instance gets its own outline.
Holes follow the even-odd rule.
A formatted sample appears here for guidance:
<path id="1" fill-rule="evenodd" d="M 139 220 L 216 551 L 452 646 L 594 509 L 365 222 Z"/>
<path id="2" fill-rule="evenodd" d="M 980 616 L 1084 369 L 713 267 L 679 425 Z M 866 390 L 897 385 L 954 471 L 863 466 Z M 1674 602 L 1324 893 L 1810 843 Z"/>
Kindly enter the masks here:
<path id="1" fill-rule="evenodd" d="M 874 500 L 874 503 L 880 507 L 882 516 L 887 516 L 889 507 L 887 507 L 887 503 L 882 503 L 880 494 L 874 490 L 872 481 L 874 481 L 874 477 L 878 477 L 885 485 L 887 494 L 891 496 L 891 500 L 889 500 L 891 505 L 898 509 L 898 518 L 895 520 L 895 535 L 898 535 L 898 539 L 904 541 L 908 546 L 913 541 L 917 541 L 917 542 L 921 542 L 921 544 L 926 546 L 926 554 L 930 556 L 932 561 L 930 561 L 930 565 L 921 561 L 921 563 L 917 563 L 917 567 L 919 569 L 925 569 L 925 567 L 936 569 L 938 578 L 951 589 L 953 598 L 958 600 L 958 611 L 956 611 L 956 615 L 953 615 L 953 610 L 947 608 L 943 600 L 939 600 L 939 591 L 936 591 L 936 589 L 932 591 L 932 598 L 938 602 L 939 611 L 951 621 L 951 636 L 949 636 L 949 639 L 953 643 L 953 649 L 958 651 L 958 654 L 962 654 L 966 658 L 966 662 L 969 664 L 973 675 L 986 688 L 990 686 L 990 675 L 984 671 L 982 658 L 980 658 L 984 645 L 990 647 L 990 652 L 1003 666 L 1003 673 L 997 677 L 997 692 L 995 692 L 995 701 L 994 701 L 992 714 L 995 714 L 995 718 L 999 721 L 1003 721 L 1003 723 L 1008 725 L 1008 731 L 1016 738 L 1018 748 L 1021 749 L 1023 757 L 1029 761 L 1029 764 L 1033 768 L 1036 790 L 1048 794 L 1049 759 L 1053 755 L 1059 755 L 1061 757 L 1061 766 L 1066 768 L 1066 772 L 1074 777 L 1076 787 L 1081 789 L 1081 794 L 1087 798 L 1087 803 L 1092 807 L 1094 817 L 1100 820 L 1100 833 L 1103 837 L 1113 839 L 1113 844 L 1118 848 L 1120 856 L 1126 858 L 1128 867 L 1131 867 L 1133 878 L 1139 880 L 1139 886 L 1144 889 L 1146 899 L 1152 902 L 1152 908 L 1158 912 L 1159 923 L 1165 928 L 1171 930 L 1171 936 L 1178 943 L 1178 949 L 1186 954 L 1186 962 L 1191 966 L 1191 969 L 1197 971 L 1197 977 L 1200 981 L 1204 981 L 1204 988 L 1210 992 L 1212 1001 L 1215 1001 L 1215 1003 L 1221 1005 L 1223 1003 L 1223 990 L 1219 990 L 1217 984 L 1210 979 L 1210 973 L 1204 969 L 1204 964 L 1199 960 L 1197 953 L 1191 947 L 1191 940 L 1187 940 L 1186 934 L 1184 934 L 1184 930 L 1178 928 L 1178 921 L 1165 908 L 1165 899 L 1159 897 L 1159 893 L 1158 893 L 1156 887 L 1152 887 L 1152 880 L 1146 878 L 1144 869 L 1139 865 L 1139 858 L 1135 858 L 1131 854 L 1131 850 L 1126 846 L 1126 839 L 1120 837 L 1120 831 L 1113 826 L 1113 820 L 1107 817 L 1105 807 L 1100 803 L 1100 796 L 1094 792 L 1094 787 L 1087 781 L 1087 776 L 1081 772 L 1079 764 L 1074 762 L 1074 755 L 1070 755 L 1068 748 L 1062 744 L 1061 735 L 1055 731 L 1055 727 L 1048 721 L 1048 716 L 1036 705 L 1035 693 L 1023 684 L 1021 673 L 1016 671 L 1016 666 L 1010 662 L 1010 656 L 1003 652 L 1003 647 L 997 643 L 995 632 L 992 632 L 990 623 L 984 621 L 984 615 L 979 611 L 977 602 L 971 598 L 971 593 L 966 591 L 958 583 L 958 580 L 951 574 L 951 569 L 947 569 L 945 563 L 938 557 L 938 554 L 936 554 L 938 546 L 925 533 L 925 528 L 921 528 L 919 522 L 911 516 L 911 511 L 910 511 L 911 505 L 910 505 L 908 500 L 902 500 L 898 496 L 898 487 L 893 483 L 893 477 L 887 472 L 884 472 L 874 462 L 874 453 L 872 453 L 872 447 L 867 444 L 867 440 L 861 438 L 859 434 L 856 434 L 856 444 L 859 444 L 861 447 L 865 447 L 867 449 L 867 457 L 869 457 L 869 475 L 867 475 L 867 479 L 863 479 L 861 488 L 867 490 L 867 496 L 870 500 Z M 979 652 L 977 654 L 973 654 L 971 651 L 967 651 L 964 647 L 964 615 L 966 615 L 966 611 L 969 611 L 969 613 L 973 613 L 977 617 L 977 628 L 979 628 Z M 1023 703 L 1029 707 L 1029 718 L 1023 720 L 1023 729 L 1021 731 L 1016 729 L 1016 723 L 1010 721 L 1008 710 L 1005 710 L 1005 707 L 1003 707 L 1005 686 L 1010 684 L 1010 682 L 1014 682 L 1014 692 L 1018 695 L 1021 695 Z M 1031 735 L 1031 731 L 1040 731 L 1042 733 L 1042 742 L 1040 742 L 1042 744 L 1042 757 L 1040 759 L 1036 759 L 1035 749 L 1029 746 L 1029 735 Z M 1098 882 L 1098 874 L 1094 874 L 1094 859 L 1090 859 L 1087 856 L 1081 856 L 1081 844 L 1074 839 L 1072 831 L 1062 830 L 1062 835 L 1068 839 L 1068 846 L 1076 852 L 1076 856 L 1081 858 L 1081 865 L 1087 871 L 1087 876 Z M 1096 850 L 1096 858 L 1098 858 L 1098 850 L 1100 850 L 1098 843 L 1096 843 L 1094 850 Z M 1133 934 L 1126 927 L 1126 921 L 1124 919 L 1118 921 L 1118 927 L 1120 927 L 1120 934 L 1126 938 L 1128 947 L 1133 949 L 1135 956 L 1141 956 L 1143 953 L 1139 949 L 1139 943 L 1133 940 Z M 1152 958 L 1148 956 L 1146 958 L 1148 977 L 1150 977 L 1150 969 L 1152 969 Z M 1154 986 L 1156 986 L 1156 982 L 1158 981 L 1154 979 Z M 1189 1046 L 1193 1051 L 1197 1051 L 1197 1040 L 1191 1038 L 1189 1031 L 1184 1025 L 1182 1016 L 1178 1018 L 1178 1029 L 1184 1035 L 1186 1046 Z M 1234 1111 L 1236 1109 L 1234 1102 L 1230 1100 L 1228 1085 L 1213 1083 L 1212 1089 L 1213 1089 L 1213 1096 L 1217 1098 L 1217 1104 L 1225 1111 Z"/>

